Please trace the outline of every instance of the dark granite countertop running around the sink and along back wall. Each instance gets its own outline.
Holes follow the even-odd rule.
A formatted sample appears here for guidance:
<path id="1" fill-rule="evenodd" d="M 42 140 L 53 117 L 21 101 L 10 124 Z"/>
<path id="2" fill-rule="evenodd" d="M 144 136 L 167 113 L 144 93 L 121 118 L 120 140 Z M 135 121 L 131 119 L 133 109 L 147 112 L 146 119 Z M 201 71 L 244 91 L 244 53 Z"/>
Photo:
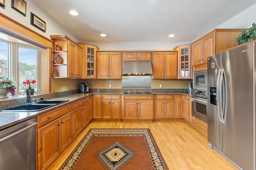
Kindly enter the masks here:
<path id="1" fill-rule="evenodd" d="M 56 109 L 58 107 L 62 107 L 62 106 L 65 106 L 66 104 L 70 104 L 70 103 L 72 103 L 76 100 L 79 100 L 81 98 L 84 98 L 86 96 L 92 96 L 95 94 L 98 94 L 98 95 L 175 95 L 175 94 L 181 94 L 181 95 L 191 96 L 191 95 L 183 93 L 183 92 L 152 92 L 152 94 L 124 94 L 124 92 L 90 92 L 90 93 L 69 94 L 69 95 L 64 95 L 61 97 L 47 99 L 47 100 L 69 100 L 69 101 L 62 103 L 62 104 L 57 104 L 56 106 L 44 109 L 42 111 L 31 111 L 31 112 L 0 111 L 0 131 L 3 129 L 6 129 L 10 126 L 16 125 L 23 121 L 26 121 L 28 119 L 31 119 L 33 117 L 36 117 L 38 115 L 41 115 L 43 113 L 46 113 L 48 111 L 51 111 L 53 109 Z"/>

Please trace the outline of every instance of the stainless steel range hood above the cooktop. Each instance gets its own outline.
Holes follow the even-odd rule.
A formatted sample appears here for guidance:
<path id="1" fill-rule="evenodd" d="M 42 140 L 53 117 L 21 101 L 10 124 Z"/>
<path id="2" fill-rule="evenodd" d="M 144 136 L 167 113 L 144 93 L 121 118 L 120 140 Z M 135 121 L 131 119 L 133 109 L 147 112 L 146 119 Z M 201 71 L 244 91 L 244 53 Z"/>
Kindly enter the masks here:
<path id="1" fill-rule="evenodd" d="M 153 72 L 150 61 L 124 61 L 122 75 L 143 76 L 152 74 Z"/>

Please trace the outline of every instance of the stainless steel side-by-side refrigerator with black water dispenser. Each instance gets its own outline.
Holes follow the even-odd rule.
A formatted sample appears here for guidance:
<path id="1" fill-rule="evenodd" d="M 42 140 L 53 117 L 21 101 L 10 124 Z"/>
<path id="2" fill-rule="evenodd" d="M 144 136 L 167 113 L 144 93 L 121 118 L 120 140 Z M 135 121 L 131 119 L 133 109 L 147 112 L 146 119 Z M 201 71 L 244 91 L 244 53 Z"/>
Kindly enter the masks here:
<path id="1" fill-rule="evenodd" d="M 256 43 L 208 57 L 208 143 L 255 170 Z"/>

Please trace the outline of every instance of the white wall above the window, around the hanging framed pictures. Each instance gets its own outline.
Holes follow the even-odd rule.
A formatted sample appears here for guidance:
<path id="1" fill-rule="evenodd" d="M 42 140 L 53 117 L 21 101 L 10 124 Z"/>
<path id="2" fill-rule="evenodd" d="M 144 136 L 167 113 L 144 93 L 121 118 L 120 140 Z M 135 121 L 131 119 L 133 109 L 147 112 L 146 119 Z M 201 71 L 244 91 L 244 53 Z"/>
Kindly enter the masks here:
<path id="1" fill-rule="evenodd" d="M 46 14 L 41 8 L 39 8 L 32 0 L 26 0 L 26 17 L 18 13 L 16 10 L 11 8 L 11 0 L 6 0 L 5 9 L 0 7 L 0 12 L 4 15 L 18 21 L 22 25 L 33 29 L 34 31 L 42 34 L 44 37 L 50 38 L 50 35 L 67 35 L 72 40 L 78 42 L 78 39 L 64 29 L 60 24 L 53 20 L 48 14 Z M 34 25 L 30 24 L 30 12 L 38 16 L 41 20 L 46 22 L 46 32 L 44 33 Z"/>

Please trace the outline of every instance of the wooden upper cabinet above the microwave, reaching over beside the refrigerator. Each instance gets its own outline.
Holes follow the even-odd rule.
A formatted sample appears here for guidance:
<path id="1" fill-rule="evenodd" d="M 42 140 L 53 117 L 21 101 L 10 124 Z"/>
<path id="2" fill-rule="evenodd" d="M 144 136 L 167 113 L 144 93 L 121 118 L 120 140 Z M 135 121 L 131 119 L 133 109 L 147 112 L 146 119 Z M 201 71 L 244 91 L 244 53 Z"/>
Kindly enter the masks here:
<path id="1" fill-rule="evenodd" d="M 192 43 L 193 66 L 206 64 L 207 57 L 237 45 L 236 37 L 244 29 L 214 29 Z"/>

